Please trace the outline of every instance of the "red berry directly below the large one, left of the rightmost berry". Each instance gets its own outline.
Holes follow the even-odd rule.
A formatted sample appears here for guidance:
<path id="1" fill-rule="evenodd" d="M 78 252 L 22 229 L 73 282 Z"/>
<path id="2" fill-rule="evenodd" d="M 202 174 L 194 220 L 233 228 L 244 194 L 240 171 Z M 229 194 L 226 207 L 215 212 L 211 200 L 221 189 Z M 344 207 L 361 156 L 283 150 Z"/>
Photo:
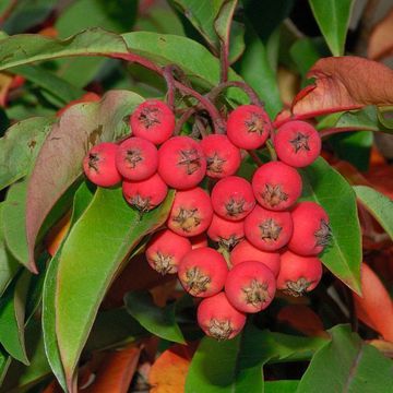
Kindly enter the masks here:
<path id="1" fill-rule="evenodd" d="M 293 221 L 288 212 L 272 212 L 257 205 L 245 221 L 247 240 L 262 251 L 281 249 L 291 234 Z"/>

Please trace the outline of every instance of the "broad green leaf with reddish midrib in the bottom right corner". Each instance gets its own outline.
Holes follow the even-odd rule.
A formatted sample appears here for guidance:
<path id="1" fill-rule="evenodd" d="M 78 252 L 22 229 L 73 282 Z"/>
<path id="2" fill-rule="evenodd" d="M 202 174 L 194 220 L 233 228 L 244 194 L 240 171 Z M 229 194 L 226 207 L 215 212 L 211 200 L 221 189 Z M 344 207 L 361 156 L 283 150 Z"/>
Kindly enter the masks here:
<path id="1" fill-rule="evenodd" d="M 296 392 L 315 392 L 315 386 L 321 393 L 390 391 L 393 386 L 391 359 L 362 342 L 347 325 L 337 325 L 329 332 L 332 341 L 313 356 Z"/>

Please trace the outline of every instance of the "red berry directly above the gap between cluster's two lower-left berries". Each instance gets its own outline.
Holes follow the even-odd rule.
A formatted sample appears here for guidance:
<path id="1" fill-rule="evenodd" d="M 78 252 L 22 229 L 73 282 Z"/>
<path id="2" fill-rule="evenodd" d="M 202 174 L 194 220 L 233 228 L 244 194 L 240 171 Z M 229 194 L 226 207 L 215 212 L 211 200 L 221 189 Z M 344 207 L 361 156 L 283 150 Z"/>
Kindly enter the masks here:
<path id="1" fill-rule="evenodd" d="M 196 187 L 176 193 L 167 225 L 174 233 L 191 237 L 205 231 L 212 217 L 211 200 L 205 191 Z"/>

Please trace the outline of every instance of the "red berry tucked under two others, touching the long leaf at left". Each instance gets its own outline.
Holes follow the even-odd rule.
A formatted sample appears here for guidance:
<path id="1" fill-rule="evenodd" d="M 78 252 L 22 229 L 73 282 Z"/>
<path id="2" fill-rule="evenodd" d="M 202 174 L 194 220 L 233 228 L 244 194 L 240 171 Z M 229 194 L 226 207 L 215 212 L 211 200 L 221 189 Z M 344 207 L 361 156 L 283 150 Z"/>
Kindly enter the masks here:
<path id="1" fill-rule="evenodd" d="M 123 180 L 122 191 L 126 201 L 140 212 L 147 212 L 159 205 L 168 192 L 167 184 L 157 175 L 146 180 Z"/>

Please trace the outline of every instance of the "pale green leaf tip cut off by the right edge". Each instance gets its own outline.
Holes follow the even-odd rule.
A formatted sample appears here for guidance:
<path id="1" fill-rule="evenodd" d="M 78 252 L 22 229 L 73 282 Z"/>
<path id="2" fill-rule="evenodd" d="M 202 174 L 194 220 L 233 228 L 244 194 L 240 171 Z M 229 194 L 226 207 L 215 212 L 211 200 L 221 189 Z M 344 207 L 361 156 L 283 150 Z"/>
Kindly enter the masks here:
<path id="1" fill-rule="evenodd" d="M 393 201 L 367 186 L 354 186 L 357 199 L 393 239 Z"/>

